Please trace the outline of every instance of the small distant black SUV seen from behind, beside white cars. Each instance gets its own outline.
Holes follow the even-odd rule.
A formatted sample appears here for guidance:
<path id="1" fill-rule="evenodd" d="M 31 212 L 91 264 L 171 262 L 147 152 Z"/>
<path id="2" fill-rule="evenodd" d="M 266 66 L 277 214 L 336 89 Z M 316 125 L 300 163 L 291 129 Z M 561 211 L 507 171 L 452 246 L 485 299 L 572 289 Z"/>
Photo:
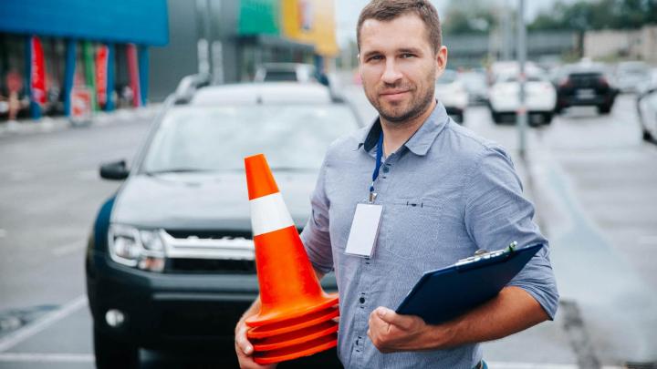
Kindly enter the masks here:
<path id="1" fill-rule="evenodd" d="M 565 108 L 592 106 L 609 114 L 618 90 L 610 86 L 599 67 L 566 67 L 557 84 L 557 113 Z"/>

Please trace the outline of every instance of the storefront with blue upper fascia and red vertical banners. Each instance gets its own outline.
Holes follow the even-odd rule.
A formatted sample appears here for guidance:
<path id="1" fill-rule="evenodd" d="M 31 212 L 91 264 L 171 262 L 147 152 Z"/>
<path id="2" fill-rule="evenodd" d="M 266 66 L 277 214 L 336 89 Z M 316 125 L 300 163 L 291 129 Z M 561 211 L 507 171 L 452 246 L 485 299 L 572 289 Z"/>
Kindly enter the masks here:
<path id="1" fill-rule="evenodd" d="M 168 41 L 164 0 L 2 1 L 0 96 L 17 96 L 33 118 L 70 114 L 76 97 L 92 110 L 140 106 L 149 47 Z"/>

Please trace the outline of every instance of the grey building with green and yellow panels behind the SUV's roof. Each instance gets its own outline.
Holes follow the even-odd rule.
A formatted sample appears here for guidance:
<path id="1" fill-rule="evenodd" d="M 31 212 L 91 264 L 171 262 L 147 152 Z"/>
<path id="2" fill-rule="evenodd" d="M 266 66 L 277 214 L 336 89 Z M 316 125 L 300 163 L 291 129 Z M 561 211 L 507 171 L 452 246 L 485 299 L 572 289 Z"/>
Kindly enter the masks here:
<path id="1" fill-rule="evenodd" d="M 184 76 L 249 81 L 269 62 L 312 63 L 339 54 L 332 0 L 168 0 L 170 42 L 151 49 L 151 99 Z"/>

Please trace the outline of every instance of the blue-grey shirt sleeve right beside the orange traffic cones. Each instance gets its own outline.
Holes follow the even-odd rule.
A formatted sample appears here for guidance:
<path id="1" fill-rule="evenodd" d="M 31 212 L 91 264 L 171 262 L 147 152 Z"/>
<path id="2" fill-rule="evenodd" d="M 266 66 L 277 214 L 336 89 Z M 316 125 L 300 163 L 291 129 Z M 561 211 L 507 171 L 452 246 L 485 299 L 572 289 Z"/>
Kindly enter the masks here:
<path id="1" fill-rule="evenodd" d="M 333 252 L 331 251 L 330 234 L 328 232 L 328 208 L 330 203 L 326 196 L 324 182 L 326 179 L 327 159 L 319 169 L 317 185 L 310 198 L 312 211 L 310 218 L 301 232 L 308 253 L 308 259 L 319 272 L 328 273 L 333 270 Z"/>

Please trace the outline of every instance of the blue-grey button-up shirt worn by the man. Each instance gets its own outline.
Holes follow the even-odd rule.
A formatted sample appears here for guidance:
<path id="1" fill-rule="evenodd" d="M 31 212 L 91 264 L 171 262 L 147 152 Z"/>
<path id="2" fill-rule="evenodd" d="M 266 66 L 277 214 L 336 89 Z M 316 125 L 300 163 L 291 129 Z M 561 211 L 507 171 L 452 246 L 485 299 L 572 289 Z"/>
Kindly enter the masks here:
<path id="1" fill-rule="evenodd" d="M 346 255 L 356 205 L 369 195 L 377 119 L 328 149 L 312 197 L 312 216 L 301 234 L 321 272 L 335 270 L 339 288 L 340 361 L 349 368 L 472 368 L 479 344 L 450 350 L 381 354 L 367 336 L 378 306 L 395 309 L 423 272 L 443 268 L 478 249 L 510 242 L 544 242 L 509 283 L 525 289 L 554 318 L 557 286 L 547 240 L 532 221 L 534 207 L 505 150 L 447 117 L 442 104 L 381 166 L 376 203 L 383 206 L 370 259 Z"/>

